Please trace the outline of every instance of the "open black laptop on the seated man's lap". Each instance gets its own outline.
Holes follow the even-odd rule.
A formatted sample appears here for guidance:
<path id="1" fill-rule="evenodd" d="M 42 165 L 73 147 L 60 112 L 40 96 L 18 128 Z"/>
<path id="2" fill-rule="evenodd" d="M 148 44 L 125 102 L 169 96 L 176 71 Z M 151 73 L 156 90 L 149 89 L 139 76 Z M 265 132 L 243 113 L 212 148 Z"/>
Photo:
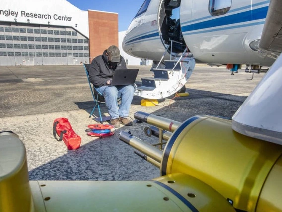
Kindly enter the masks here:
<path id="1" fill-rule="evenodd" d="M 134 85 L 139 69 L 116 69 L 110 86 Z"/>

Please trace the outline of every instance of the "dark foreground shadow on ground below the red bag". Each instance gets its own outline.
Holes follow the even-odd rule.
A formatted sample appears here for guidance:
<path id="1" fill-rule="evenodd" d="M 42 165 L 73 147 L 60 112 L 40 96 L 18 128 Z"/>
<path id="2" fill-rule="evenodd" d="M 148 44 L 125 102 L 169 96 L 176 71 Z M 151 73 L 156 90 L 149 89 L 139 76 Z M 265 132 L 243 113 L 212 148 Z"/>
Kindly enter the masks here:
<path id="1" fill-rule="evenodd" d="M 130 146 L 115 142 L 118 131 L 29 171 L 30 180 L 139 180 L 159 175 L 159 170 L 136 156 Z M 148 174 L 143 176 L 145 172 Z"/>

